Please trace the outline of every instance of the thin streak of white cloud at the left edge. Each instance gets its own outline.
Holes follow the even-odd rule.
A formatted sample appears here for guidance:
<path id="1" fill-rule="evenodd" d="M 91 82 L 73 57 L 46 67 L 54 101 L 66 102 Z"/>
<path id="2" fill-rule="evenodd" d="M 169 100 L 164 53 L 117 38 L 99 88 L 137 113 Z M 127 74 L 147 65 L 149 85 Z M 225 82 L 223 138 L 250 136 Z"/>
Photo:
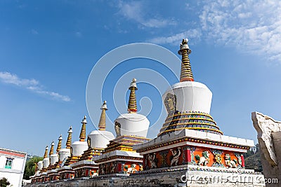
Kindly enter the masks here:
<path id="1" fill-rule="evenodd" d="M 19 78 L 15 74 L 0 71 L 0 81 L 3 83 L 12 84 L 18 87 L 25 88 L 27 90 L 30 90 L 40 95 L 47 95 L 52 99 L 57 99 L 63 102 L 70 102 L 70 97 L 68 97 L 67 95 L 60 95 L 57 92 L 46 91 L 43 89 L 43 86 L 39 83 L 39 81 L 33 78 L 32 79 Z"/>

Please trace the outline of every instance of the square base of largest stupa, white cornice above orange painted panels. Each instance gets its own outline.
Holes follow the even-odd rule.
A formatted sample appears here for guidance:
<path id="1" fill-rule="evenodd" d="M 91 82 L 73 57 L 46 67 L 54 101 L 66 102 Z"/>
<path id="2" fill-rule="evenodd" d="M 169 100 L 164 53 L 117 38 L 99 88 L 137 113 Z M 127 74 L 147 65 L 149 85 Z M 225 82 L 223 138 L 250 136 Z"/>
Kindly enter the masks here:
<path id="1" fill-rule="evenodd" d="M 181 130 L 134 145 L 143 155 L 143 169 L 202 165 L 208 167 L 244 167 L 244 156 L 254 141 L 221 134 Z"/>

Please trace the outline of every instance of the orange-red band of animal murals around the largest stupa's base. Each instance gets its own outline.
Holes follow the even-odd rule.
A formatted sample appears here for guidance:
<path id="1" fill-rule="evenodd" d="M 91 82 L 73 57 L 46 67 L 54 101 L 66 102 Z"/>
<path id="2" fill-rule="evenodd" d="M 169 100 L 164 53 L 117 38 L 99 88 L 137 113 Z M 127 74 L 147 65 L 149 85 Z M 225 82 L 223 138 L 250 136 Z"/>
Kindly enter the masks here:
<path id="1" fill-rule="evenodd" d="M 179 146 L 143 155 L 143 169 L 174 167 L 177 165 L 201 165 L 208 167 L 244 167 L 241 153 L 212 148 Z"/>

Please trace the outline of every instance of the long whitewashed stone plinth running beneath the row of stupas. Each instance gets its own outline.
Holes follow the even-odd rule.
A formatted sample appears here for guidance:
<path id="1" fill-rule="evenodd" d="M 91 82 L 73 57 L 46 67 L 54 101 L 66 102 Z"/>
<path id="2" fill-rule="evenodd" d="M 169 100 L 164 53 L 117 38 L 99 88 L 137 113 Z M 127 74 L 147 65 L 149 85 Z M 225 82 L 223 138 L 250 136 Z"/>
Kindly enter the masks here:
<path id="1" fill-rule="evenodd" d="M 48 183 L 33 183 L 27 187 L 55 186 L 191 186 L 191 187 L 264 187 L 263 175 L 253 169 L 221 169 L 218 167 L 203 167 L 182 165 L 150 169 L 136 174 L 106 174 L 93 176 L 92 179 L 77 179 L 51 181 Z"/>

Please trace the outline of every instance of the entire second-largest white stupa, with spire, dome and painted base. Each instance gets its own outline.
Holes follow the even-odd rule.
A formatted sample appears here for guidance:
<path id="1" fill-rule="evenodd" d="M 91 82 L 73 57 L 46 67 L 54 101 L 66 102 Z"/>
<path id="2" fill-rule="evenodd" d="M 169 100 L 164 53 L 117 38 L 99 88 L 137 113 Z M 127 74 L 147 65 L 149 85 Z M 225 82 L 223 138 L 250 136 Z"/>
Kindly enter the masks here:
<path id="1" fill-rule="evenodd" d="M 133 78 L 129 90 L 128 112 L 120 115 L 115 120 L 115 132 L 117 137 L 110 141 L 105 151 L 101 155 L 93 157 L 93 161 L 98 164 L 98 174 L 129 174 L 132 168 L 140 171 L 143 165 L 143 156 L 133 151 L 134 144 L 142 144 L 148 141 L 149 120 L 137 112 L 136 105 L 136 78 Z M 126 167 L 125 167 L 126 163 Z M 107 169 L 108 166 L 111 169 Z M 117 167 L 119 165 L 119 167 Z M 130 169 L 131 168 L 131 169 Z"/>

